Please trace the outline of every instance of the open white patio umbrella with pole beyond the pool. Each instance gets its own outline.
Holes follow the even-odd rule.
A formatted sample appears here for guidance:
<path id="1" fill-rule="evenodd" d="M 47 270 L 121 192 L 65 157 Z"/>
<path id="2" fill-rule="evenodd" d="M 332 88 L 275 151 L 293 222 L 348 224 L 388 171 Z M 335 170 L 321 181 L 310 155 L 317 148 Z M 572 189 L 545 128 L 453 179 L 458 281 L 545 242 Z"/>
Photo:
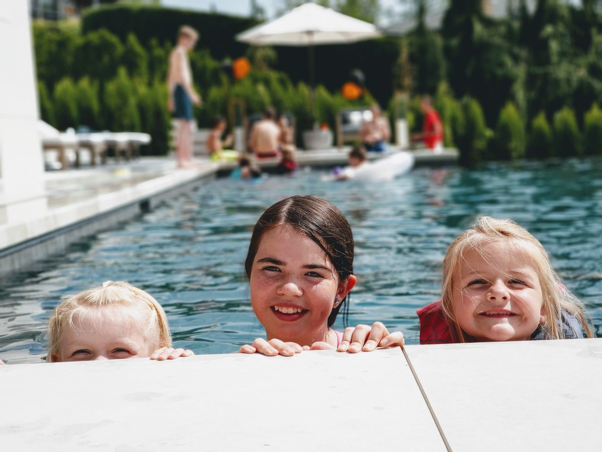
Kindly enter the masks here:
<path id="1" fill-rule="evenodd" d="M 309 83 L 314 84 L 314 46 L 343 44 L 380 36 L 373 24 L 315 3 L 294 8 L 278 19 L 257 25 L 236 39 L 252 45 L 308 46 Z"/>

